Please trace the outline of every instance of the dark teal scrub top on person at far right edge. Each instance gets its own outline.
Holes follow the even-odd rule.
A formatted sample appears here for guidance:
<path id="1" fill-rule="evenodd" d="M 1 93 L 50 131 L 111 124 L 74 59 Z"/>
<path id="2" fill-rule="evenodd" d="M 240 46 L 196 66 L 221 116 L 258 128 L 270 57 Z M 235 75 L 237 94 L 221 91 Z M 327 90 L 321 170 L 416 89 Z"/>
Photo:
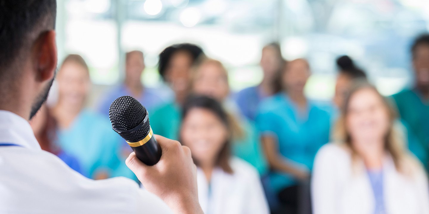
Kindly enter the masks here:
<path id="1" fill-rule="evenodd" d="M 429 168 L 429 100 L 423 100 L 417 90 L 403 90 L 392 97 L 408 129 L 408 134 L 416 138 L 416 140 L 409 140 L 408 147 L 427 170 Z"/>

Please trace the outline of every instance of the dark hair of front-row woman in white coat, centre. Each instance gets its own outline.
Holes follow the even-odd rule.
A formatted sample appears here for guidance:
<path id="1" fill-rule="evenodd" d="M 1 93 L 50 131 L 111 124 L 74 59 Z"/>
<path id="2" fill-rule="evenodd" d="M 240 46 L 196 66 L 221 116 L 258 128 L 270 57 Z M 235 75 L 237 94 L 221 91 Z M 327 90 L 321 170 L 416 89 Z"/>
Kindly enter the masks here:
<path id="1" fill-rule="evenodd" d="M 216 117 L 222 121 L 222 123 L 224 124 L 225 127 L 227 127 L 227 130 L 230 130 L 229 126 L 229 117 L 227 112 L 224 110 L 224 108 L 222 107 L 221 103 L 219 103 L 218 101 L 216 101 L 213 98 L 210 98 L 208 96 L 190 96 L 188 97 L 188 99 L 185 101 L 184 105 L 183 105 L 183 109 L 182 109 L 182 121 L 184 118 L 186 118 L 186 116 L 188 115 L 188 113 L 190 112 L 190 110 L 195 109 L 195 108 L 202 108 L 202 109 L 207 109 L 208 111 L 210 111 L 211 113 L 213 113 L 214 115 L 216 115 Z M 180 141 L 182 142 L 182 141 Z M 218 154 L 218 159 L 216 160 L 216 165 L 220 166 L 224 172 L 233 173 L 233 169 L 230 166 L 230 158 L 231 158 L 231 139 L 227 139 L 226 142 L 224 143 L 224 146 L 221 148 L 221 151 Z M 199 166 L 198 161 L 196 161 L 194 159 L 194 163 L 196 166 Z"/>

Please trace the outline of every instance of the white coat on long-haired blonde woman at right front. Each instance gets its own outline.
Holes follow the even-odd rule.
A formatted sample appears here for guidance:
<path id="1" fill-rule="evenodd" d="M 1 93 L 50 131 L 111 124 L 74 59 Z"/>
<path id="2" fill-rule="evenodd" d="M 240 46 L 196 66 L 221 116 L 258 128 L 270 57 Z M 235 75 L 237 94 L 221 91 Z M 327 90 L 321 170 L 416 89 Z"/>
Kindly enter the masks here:
<path id="1" fill-rule="evenodd" d="M 387 214 L 429 214 L 426 174 L 417 160 L 407 160 L 414 173 L 399 173 L 390 156 L 383 162 L 384 207 Z M 374 214 L 374 193 L 362 160 L 353 162 L 340 145 L 320 148 L 313 166 L 313 214 Z"/>

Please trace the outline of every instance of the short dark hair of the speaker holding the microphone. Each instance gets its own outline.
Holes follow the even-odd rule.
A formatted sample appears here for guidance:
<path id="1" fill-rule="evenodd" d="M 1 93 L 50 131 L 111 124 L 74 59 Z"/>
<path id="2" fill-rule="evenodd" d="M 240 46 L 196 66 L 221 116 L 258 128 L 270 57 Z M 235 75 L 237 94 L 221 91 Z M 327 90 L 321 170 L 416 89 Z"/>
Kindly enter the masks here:
<path id="1" fill-rule="evenodd" d="M 29 53 L 41 33 L 54 30 L 56 0 L 0 0 L 0 78 Z"/>

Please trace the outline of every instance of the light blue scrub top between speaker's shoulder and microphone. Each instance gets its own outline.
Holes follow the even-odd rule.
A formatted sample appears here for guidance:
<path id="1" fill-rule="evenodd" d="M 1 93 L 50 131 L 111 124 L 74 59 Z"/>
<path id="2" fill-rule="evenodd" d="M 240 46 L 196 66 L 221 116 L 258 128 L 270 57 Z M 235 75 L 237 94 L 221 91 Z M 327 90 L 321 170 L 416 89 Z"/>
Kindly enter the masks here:
<path id="1" fill-rule="evenodd" d="M 103 171 L 111 177 L 135 178 L 120 155 L 124 139 L 112 130 L 108 118 L 83 110 L 68 129 L 58 130 L 57 136 L 63 151 L 79 161 L 82 175 L 94 178 Z"/>

